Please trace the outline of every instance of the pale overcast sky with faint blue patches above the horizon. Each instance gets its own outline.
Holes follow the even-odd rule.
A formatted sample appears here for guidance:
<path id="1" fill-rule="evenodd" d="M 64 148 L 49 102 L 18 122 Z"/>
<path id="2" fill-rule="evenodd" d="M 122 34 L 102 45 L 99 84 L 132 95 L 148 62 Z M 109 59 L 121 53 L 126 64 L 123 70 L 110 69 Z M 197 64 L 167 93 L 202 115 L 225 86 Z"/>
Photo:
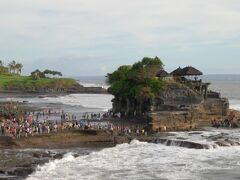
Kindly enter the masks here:
<path id="1" fill-rule="evenodd" d="M 25 74 L 105 75 L 144 56 L 168 71 L 239 73 L 239 0 L 0 1 L 0 59 Z"/>

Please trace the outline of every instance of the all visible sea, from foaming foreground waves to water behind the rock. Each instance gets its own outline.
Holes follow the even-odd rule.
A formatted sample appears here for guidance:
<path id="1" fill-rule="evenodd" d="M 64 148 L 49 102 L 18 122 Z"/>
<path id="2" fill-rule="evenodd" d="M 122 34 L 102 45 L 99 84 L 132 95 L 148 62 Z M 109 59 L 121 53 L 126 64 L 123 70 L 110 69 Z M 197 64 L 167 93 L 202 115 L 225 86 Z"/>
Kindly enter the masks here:
<path id="1" fill-rule="evenodd" d="M 76 77 L 84 86 L 107 88 L 104 77 Z M 206 75 L 210 89 L 229 98 L 230 107 L 240 110 L 240 75 Z M 65 108 L 70 113 L 104 112 L 111 108 L 111 95 L 72 94 L 60 97 L 12 100 Z M 9 100 L 9 99 L 8 99 Z M 55 104 L 58 104 L 55 106 Z M 59 106 L 62 105 L 62 106 Z M 28 180 L 236 180 L 240 179 L 240 129 L 206 128 L 194 132 L 172 132 L 169 143 L 133 140 L 111 148 L 74 156 L 69 149 L 60 160 L 38 166 Z M 181 141 L 207 148 L 180 146 Z M 178 142 L 179 141 L 179 142 Z M 219 146 L 222 141 L 225 146 Z M 81 151 L 81 150 L 79 150 Z"/>

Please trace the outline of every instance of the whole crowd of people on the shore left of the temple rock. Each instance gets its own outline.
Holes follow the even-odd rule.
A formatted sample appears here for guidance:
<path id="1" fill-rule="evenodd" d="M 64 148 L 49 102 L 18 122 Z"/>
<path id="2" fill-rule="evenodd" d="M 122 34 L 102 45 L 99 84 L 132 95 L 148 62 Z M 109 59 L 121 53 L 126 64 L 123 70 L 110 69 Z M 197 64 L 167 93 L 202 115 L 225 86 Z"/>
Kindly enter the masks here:
<path id="1" fill-rule="evenodd" d="M 111 116 L 111 111 L 83 113 L 81 116 L 77 116 L 76 114 L 50 109 L 36 112 L 19 112 L 16 107 L 11 108 L 4 110 L 4 119 L 0 121 L 0 136 L 20 138 L 73 129 L 108 130 L 112 133 L 136 136 L 147 135 L 146 129 L 139 126 L 114 125 L 109 121 L 102 121 L 102 118 Z M 0 117 L 3 117 L 2 112 L 0 112 Z M 54 120 L 50 117 L 54 117 Z"/>

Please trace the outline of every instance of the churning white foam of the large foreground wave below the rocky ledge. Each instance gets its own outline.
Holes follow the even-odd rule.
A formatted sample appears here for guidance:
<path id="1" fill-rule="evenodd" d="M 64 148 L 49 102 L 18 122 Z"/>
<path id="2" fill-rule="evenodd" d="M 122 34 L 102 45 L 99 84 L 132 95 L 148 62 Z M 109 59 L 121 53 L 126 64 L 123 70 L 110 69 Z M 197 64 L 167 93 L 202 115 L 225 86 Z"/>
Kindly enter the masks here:
<path id="1" fill-rule="evenodd" d="M 77 158 L 68 154 L 62 160 L 38 167 L 28 180 L 204 179 L 212 172 L 239 170 L 239 150 L 240 147 L 195 150 L 134 140 Z"/>

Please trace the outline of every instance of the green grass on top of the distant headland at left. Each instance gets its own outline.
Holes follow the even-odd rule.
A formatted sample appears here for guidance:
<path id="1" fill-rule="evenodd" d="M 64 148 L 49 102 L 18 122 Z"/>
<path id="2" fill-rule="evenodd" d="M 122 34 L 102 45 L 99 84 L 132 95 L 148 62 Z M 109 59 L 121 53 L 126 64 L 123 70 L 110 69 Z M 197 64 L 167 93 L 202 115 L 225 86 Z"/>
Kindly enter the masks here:
<path id="1" fill-rule="evenodd" d="M 76 84 L 71 78 L 42 78 L 34 80 L 29 76 L 0 75 L 2 90 L 38 90 L 45 88 L 68 88 Z"/>

